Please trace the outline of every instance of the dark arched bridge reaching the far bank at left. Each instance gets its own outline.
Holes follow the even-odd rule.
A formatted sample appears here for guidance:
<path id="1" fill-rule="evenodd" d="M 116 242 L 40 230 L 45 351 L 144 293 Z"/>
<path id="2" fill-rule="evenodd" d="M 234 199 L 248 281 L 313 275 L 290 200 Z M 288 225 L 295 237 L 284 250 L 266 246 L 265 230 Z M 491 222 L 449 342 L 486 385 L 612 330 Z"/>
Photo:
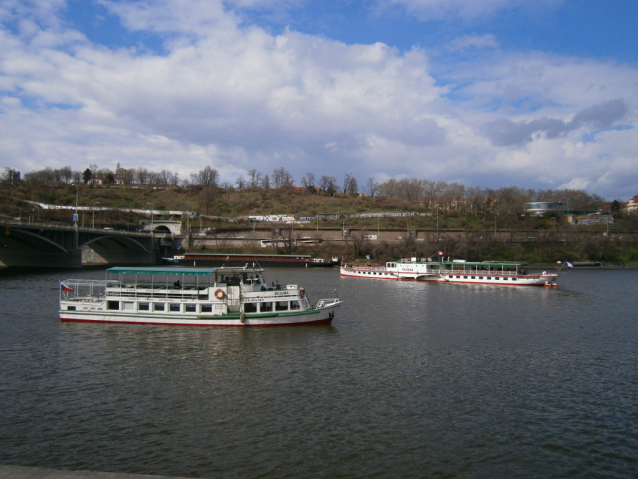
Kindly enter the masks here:
<path id="1" fill-rule="evenodd" d="M 181 247 L 183 236 L 5 223 L 0 226 L 0 268 L 80 268 L 99 264 L 156 264 Z"/>

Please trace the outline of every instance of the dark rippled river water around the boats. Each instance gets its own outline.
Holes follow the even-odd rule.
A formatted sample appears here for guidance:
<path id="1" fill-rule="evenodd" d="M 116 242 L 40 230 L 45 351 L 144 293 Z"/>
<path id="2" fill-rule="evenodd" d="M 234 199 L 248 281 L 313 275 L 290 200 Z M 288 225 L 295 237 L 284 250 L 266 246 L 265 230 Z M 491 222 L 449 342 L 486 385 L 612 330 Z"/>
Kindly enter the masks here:
<path id="1" fill-rule="evenodd" d="M 638 271 L 558 288 L 277 269 L 330 326 L 61 323 L 0 276 L 0 464 L 199 478 L 638 477 Z"/>

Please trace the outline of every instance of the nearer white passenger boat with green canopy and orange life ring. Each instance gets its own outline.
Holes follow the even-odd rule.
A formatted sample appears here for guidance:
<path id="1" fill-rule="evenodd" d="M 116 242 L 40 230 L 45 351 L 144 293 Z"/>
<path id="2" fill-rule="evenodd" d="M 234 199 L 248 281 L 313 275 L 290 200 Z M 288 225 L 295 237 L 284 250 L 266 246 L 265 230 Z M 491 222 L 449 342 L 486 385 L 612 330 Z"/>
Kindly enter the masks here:
<path id="1" fill-rule="evenodd" d="M 109 268 L 105 280 L 60 282 L 60 319 L 190 326 L 327 324 L 341 300 L 310 303 L 261 268 Z M 335 291 L 336 293 L 336 291 Z"/>

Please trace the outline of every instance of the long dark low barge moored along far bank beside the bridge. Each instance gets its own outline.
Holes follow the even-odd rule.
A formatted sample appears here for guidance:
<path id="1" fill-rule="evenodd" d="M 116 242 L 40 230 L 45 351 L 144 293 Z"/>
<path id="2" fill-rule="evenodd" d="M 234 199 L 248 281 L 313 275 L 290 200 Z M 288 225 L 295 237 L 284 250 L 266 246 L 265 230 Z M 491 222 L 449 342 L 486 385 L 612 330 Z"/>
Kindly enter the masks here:
<path id="1" fill-rule="evenodd" d="M 227 254 L 227 253 L 185 253 L 173 258 L 162 258 L 165 264 L 184 266 L 239 266 L 246 263 L 257 263 L 260 266 L 301 266 L 331 267 L 339 264 L 339 258 L 332 261 L 313 258 L 308 254 Z"/>

